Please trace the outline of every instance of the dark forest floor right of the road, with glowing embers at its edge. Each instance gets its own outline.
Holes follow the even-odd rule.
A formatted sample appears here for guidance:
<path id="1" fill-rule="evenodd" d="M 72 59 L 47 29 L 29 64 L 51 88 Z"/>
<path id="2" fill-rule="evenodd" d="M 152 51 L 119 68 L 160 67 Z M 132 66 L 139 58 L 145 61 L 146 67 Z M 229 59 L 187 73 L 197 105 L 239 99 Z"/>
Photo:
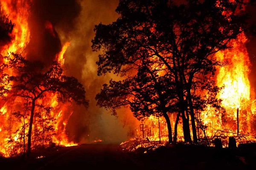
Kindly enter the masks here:
<path id="1" fill-rule="evenodd" d="M 152 142 L 134 140 L 122 143 L 121 147 L 134 153 L 134 158 L 145 159 L 152 167 L 158 166 L 159 170 L 256 170 L 256 143 L 233 148 L 149 143 Z"/>

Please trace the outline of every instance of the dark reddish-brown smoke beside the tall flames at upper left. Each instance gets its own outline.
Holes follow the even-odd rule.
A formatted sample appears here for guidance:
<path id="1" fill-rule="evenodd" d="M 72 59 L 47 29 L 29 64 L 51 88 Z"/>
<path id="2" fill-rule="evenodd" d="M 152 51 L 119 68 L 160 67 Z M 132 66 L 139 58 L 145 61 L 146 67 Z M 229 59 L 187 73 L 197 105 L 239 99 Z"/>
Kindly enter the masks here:
<path id="1" fill-rule="evenodd" d="M 74 19 L 80 11 L 81 6 L 75 0 L 32 1 L 29 16 L 31 40 L 27 47 L 27 57 L 49 64 L 48 62 L 61 50 L 61 41 L 55 32 L 55 25 L 61 24 L 65 31 L 72 30 Z M 51 24 L 52 30 L 49 28 Z"/>

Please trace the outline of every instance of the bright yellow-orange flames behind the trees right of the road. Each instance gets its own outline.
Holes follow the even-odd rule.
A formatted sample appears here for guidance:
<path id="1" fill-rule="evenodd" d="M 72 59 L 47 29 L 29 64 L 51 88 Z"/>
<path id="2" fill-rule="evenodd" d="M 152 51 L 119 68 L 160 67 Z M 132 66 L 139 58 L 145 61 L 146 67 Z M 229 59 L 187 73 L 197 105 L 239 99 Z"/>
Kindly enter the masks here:
<path id="1" fill-rule="evenodd" d="M 230 42 L 233 48 L 219 51 L 215 54 L 218 61 L 227 62 L 224 67 L 217 68 L 215 80 L 218 87 L 223 87 L 218 98 L 222 100 L 221 106 L 226 113 L 218 113 L 213 108 L 208 107 L 198 114 L 197 119 L 202 125 L 197 125 L 198 136 L 201 139 L 212 140 L 223 139 L 227 146 L 228 137 L 241 142 L 255 141 L 255 99 L 254 91 L 250 88 L 250 59 L 245 43 L 247 38 L 241 33 L 236 40 Z M 175 120 L 176 115 L 170 115 Z M 172 122 L 172 127 L 175 121 Z M 203 126 L 203 127 L 199 127 Z M 167 127 L 163 118 L 150 116 L 142 121 L 140 136 L 148 137 L 152 141 L 167 141 Z M 182 142 L 182 123 L 178 127 L 178 141 Z M 146 145 L 146 144 L 145 144 Z M 210 143 L 213 145 L 213 143 Z"/>

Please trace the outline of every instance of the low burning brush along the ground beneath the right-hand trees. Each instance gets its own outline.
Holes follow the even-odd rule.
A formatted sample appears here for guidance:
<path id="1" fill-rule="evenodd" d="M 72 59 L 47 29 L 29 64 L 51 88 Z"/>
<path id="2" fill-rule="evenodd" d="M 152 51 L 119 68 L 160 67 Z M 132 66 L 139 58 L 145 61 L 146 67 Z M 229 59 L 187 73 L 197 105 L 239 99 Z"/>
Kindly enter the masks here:
<path id="1" fill-rule="evenodd" d="M 134 131 L 136 132 L 129 133 L 131 139 L 120 144 L 123 150 L 135 153 L 147 153 L 148 151 L 154 151 L 163 146 L 175 146 L 175 144 L 169 144 L 168 142 L 168 130 L 163 118 L 160 118 L 160 121 L 158 122 L 157 117 L 154 118 L 153 116 L 150 116 L 140 124 L 140 129 L 135 129 Z M 189 142 L 184 142 L 183 136 L 179 136 L 178 139 L 176 144 L 191 144 Z M 237 148 L 239 146 L 245 146 L 246 144 L 248 144 L 248 146 L 250 144 L 256 145 L 255 136 L 250 136 L 248 134 L 239 134 L 239 136 L 237 136 L 236 133 L 228 130 L 227 133 L 216 130 L 214 136 L 208 138 L 198 137 L 198 143 L 194 143 L 194 145 L 197 146 L 214 148 Z"/>

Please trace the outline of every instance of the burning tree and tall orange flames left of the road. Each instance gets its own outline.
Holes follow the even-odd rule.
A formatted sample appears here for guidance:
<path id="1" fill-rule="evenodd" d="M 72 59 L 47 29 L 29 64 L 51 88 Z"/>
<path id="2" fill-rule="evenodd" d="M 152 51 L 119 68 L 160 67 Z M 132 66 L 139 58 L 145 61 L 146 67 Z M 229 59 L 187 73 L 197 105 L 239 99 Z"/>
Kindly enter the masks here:
<path id="1" fill-rule="evenodd" d="M 88 105 L 81 83 L 64 73 L 64 53 L 69 42 L 62 49 L 58 44 L 60 48 L 47 55 L 49 62 L 56 61 L 52 65 L 28 59 L 31 49 L 27 45 L 33 38 L 28 23 L 31 3 L 0 2 L 0 154 L 5 157 L 25 151 L 29 155 L 31 149 L 51 143 L 76 144 L 66 133 L 73 113 L 69 110 L 71 101 Z M 45 29 L 55 33 L 52 23 L 46 23 Z M 60 43 L 57 34 L 51 36 Z"/>

